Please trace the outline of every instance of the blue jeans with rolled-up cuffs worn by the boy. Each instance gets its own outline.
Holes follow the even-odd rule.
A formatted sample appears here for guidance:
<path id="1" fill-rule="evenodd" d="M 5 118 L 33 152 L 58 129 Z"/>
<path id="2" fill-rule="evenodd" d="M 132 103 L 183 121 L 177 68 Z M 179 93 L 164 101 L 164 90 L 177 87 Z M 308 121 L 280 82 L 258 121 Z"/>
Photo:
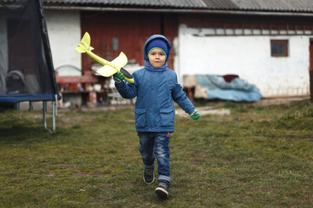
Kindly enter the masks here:
<path id="1" fill-rule="evenodd" d="M 141 142 L 141 156 L 146 167 L 154 166 L 154 158 L 158 162 L 158 180 L 172 181 L 170 178 L 170 133 L 169 132 L 138 132 Z M 155 155 L 155 157 L 154 157 Z"/>

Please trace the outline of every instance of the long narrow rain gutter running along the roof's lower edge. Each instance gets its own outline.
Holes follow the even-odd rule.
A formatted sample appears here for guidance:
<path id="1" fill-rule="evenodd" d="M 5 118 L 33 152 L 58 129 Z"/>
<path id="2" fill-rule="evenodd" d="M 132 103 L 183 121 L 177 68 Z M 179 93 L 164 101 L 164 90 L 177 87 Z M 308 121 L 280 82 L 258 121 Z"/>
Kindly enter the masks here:
<path id="1" fill-rule="evenodd" d="M 207 9 L 166 9 L 166 8 L 109 8 L 93 6 L 43 6 L 44 9 L 54 10 L 81 10 L 81 11 L 104 11 L 104 12 L 176 12 L 176 13 L 211 13 L 226 15 L 278 15 L 278 16 L 309 16 L 313 12 L 262 12 L 244 10 L 207 10 Z"/>

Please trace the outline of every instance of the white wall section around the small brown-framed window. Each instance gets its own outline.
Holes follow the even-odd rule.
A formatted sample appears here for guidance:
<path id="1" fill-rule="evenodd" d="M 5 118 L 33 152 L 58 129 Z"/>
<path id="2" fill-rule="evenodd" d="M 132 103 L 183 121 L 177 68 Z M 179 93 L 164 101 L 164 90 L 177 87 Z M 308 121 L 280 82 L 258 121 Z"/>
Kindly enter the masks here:
<path id="1" fill-rule="evenodd" d="M 262 96 L 310 94 L 310 36 L 201 36 L 205 30 L 179 26 L 174 44 L 179 83 L 186 74 L 236 74 L 256 85 Z M 289 40 L 289 56 L 271 57 L 271 40 Z"/>

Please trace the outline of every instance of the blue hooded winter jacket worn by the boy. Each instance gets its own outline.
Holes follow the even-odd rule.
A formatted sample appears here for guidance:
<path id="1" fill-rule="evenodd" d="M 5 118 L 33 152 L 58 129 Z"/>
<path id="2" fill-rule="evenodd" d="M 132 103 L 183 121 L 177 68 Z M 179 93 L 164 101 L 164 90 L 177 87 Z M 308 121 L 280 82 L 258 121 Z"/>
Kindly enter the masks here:
<path id="1" fill-rule="evenodd" d="M 185 112 L 195 107 L 182 90 L 182 86 L 177 83 L 176 73 L 168 69 L 166 62 L 162 67 L 154 68 L 148 61 L 145 48 L 154 38 L 161 38 L 168 44 L 166 62 L 168 61 L 170 42 L 163 35 L 152 35 L 143 50 L 145 68 L 132 74 L 134 84 L 115 83 L 115 87 L 123 98 L 137 97 L 134 110 L 137 132 L 174 132 L 173 101 Z"/>

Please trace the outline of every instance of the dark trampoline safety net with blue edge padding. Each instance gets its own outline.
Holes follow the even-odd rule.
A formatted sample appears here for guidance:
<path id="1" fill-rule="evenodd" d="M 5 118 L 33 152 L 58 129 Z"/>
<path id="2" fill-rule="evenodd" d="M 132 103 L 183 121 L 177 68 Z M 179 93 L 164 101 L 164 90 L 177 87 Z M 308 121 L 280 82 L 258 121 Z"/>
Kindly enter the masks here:
<path id="1" fill-rule="evenodd" d="M 0 0 L 0 104 L 53 101 L 58 90 L 41 0 Z"/>

